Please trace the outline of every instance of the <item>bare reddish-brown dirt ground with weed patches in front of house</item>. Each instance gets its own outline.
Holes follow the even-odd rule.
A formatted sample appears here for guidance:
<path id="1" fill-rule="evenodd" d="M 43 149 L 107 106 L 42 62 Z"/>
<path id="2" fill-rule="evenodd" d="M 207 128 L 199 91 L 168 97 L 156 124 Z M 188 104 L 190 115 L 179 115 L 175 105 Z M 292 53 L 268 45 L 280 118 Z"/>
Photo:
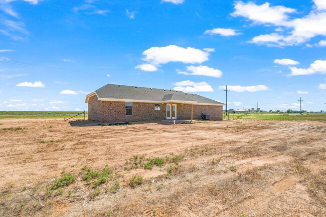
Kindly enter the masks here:
<path id="1" fill-rule="evenodd" d="M 326 123 L 0 119 L 0 216 L 326 216 Z"/>

